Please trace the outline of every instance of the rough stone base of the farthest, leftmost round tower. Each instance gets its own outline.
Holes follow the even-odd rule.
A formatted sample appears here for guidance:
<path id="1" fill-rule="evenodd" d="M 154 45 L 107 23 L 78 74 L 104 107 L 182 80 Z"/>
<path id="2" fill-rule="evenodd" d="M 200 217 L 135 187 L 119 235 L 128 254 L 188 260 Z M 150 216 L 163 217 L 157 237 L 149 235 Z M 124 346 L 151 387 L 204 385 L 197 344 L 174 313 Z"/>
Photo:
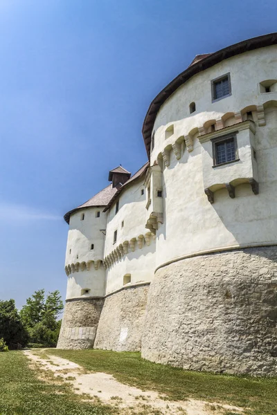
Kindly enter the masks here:
<path id="1" fill-rule="evenodd" d="M 102 306 L 102 298 L 66 300 L 57 349 L 92 348 Z"/>

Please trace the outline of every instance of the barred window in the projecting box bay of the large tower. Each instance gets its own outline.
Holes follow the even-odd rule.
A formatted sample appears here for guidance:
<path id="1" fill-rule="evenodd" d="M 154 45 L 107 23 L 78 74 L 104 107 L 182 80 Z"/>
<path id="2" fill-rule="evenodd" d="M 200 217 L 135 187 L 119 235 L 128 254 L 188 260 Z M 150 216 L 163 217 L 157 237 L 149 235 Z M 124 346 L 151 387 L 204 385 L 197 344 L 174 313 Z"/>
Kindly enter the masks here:
<path id="1" fill-rule="evenodd" d="M 222 165 L 238 160 L 237 139 L 235 136 L 215 138 L 212 141 L 214 165 Z"/>

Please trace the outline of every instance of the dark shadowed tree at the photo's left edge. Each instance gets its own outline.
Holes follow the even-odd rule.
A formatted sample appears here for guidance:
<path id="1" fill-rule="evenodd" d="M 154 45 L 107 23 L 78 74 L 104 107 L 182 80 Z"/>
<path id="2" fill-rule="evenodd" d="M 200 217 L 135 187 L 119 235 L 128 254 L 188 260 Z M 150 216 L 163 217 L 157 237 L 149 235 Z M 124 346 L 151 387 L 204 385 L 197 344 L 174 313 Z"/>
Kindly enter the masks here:
<path id="1" fill-rule="evenodd" d="M 20 343 L 23 347 L 28 342 L 28 333 L 15 308 L 15 300 L 0 300 L 0 338 L 7 343 Z"/>

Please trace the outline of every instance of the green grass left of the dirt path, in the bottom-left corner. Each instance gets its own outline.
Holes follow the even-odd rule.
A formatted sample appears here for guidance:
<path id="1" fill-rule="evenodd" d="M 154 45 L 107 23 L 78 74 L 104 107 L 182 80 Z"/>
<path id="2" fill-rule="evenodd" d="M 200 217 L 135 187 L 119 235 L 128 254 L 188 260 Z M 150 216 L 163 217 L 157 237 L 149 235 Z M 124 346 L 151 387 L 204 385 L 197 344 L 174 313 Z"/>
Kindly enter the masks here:
<path id="1" fill-rule="evenodd" d="M 82 402 L 69 385 L 38 380 L 21 351 L 0 353 L 0 415 L 110 415 L 99 403 Z"/>

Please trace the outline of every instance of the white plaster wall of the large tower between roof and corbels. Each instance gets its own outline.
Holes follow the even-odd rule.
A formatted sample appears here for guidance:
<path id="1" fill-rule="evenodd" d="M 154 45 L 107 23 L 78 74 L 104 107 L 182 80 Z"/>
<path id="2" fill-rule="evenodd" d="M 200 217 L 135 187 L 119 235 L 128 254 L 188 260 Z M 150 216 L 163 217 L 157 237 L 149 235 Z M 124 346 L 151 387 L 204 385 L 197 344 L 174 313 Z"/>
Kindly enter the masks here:
<path id="1" fill-rule="evenodd" d="M 276 79 L 277 46 L 268 46 L 236 55 L 193 76 L 180 86 L 162 105 L 154 123 L 155 147 L 151 164 L 166 145 L 172 145 L 180 136 L 187 136 L 195 127 L 208 120 L 220 120 L 225 113 L 238 112 L 249 105 L 260 105 L 277 100 L 277 91 L 260 93 L 260 82 Z M 232 95 L 212 102 L 211 80 L 230 73 Z M 190 114 L 190 102 L 196 111 Z M 174 123 L 174 134 L 165 139 L 166 129 Z"/>

